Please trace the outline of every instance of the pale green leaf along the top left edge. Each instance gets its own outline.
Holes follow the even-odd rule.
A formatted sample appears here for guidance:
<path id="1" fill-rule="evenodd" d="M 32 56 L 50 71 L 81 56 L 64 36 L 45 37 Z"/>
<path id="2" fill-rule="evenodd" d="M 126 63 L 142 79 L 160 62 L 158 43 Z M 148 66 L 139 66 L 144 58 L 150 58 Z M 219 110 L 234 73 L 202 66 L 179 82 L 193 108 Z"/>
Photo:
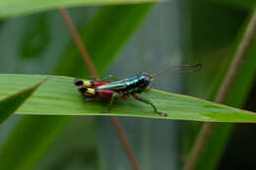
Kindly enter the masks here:
<path id="1" fill-rule="evenodd" d="M 0 18 L 27 15 L 36 12 L 57 9 L 59 7 L 77 7 L 85 5 L 114 5 L 159 2 L 161 0 L 1 0 Z M 117 15 L 118 16 L 118 15 Z"/>

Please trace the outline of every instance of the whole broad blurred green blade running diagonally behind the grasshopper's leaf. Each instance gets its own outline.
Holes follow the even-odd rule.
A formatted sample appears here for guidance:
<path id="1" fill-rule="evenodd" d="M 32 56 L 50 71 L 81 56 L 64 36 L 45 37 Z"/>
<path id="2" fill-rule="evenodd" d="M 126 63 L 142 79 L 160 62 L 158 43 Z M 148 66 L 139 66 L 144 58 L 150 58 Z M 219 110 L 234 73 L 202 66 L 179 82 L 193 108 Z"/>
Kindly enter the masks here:
<path id="1" fill-rule="evenodd" d="M 82 39 L 84 37 L 87 39 L 87 48 L 93 48 L 95 51 L 108 54 L 108 56 L 100 58 L 101 56 L 99 54 L 95 56 L 96 53 L 92 55 L 92 50 L 89 51 L 94 62 L 97 60 L 96 69 L 101 70 L 99 73 L 102 73 L 113 60 L 115 54 L 124 45 L 124 42 L 131 36 L 134 30 L 139 27 L 152 6 L 153 4 L 102 7 L 96 14 L 96 17 L 86 27 L 82 28 L 81 37 Z M 116 14 L 118 14 L 118 17 Z M 102 28 L 107 28 L 107 31 L 102 31 Z M 57 42 L 55 45 L 59 46 L 58 41 L 54 42 Z M 86 68 L 83 62 L 81 62 L 81 56 L 78 53 L 77 47 L 73 44 L 69 45 L 67 46 L 67 51 L 63 51 L 62 53 L 65 56 L 63 59 L 64 62 L 60 62 L 55 74 L 84 77 Z M 98 60 L 97 58 L 100 59 Z M 36 65 L 36 63 L 33 65 Z M 8 141 L 4 143 L 3 149 L 0 150 L 2 152 L 0 154 L 0 160 L 5 160 L 1 162 L 1 168 L 8 170 L 32 169 L 50 145 L 59 137 L 59 134 L 63 132 L 69 120 L 69 116 L 26 115 L 14 129 Z M 34 138 L 36 138 L 36 141 Z M 16 153 L 18 149 L 19 154 Z"/>

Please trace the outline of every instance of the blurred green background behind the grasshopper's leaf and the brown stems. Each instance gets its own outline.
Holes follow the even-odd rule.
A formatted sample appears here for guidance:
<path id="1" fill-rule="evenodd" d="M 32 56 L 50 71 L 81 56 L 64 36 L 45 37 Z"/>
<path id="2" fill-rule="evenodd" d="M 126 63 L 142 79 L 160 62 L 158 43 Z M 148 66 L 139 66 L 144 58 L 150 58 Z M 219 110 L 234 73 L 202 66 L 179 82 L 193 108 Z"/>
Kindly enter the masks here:
<path id="1" fill-rule="evenodd" d="M 204 68 L 199 73 L 166 76 L 153 87 L 213 99 L 216 82 L 228 66 L 254 4 L 252 0 L 174 0 L 68 11 L 102 77 L 111 74 L 124 79 L 142 71 L 156 73 L 169 65 L 201 62 Z M 0 41 L 1 74 L 89 77 L 57 10 L 2 19 Z M 251 58 L 250 77 L 236 90 L 243 91 L 240 99 L 232 102 L 230 97 L 226 104 L 256 111 L 256 60 Z M 239 78 L 245 79 L 244 75 Z M 201 125 L 142 118 L 120 118 L 120 122 L 141 168 L 147 170 L 181 169 Z M 212 142 L 220 140 L 208 145 L 204 154 L 210 156 L 196 169 L 255 169 L 255 126 L 218 124 L 218 128 Z M 10 160 L 3 169 L 131 169 L 108 117 L 14 115 L 0 127 L 0 146 L 14 132 L 21 136 L 16 143 L 21 166 L 16 168 Z"/>

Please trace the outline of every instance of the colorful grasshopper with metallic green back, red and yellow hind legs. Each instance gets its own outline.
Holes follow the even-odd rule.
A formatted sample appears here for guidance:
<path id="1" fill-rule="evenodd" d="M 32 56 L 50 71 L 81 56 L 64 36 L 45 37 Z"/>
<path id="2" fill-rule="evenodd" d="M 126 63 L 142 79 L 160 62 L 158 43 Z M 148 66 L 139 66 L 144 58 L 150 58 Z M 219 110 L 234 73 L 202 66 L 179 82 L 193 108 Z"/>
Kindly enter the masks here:
<path id="1" fill-rule="evenodd" d="M 111 105 L 116 98 L 123 98 L 126 99 L 130 95 L 132 95 L 135 99 L 142 101 L 144 103 L 150 104 L 154 112 L 166 116 L 165 113 L 158 111 L 157 107 L 148 99 L 143 98 L 137 93 L 141 93 L 146 89 L 150 89 L 151 82 L 154 81 L 154 78 L 160 76 L 162 73 L 166 72 L 175 67 L 187 67 L 192 68 L 193 70 L 185 71 L 197 71 L 200 70 L 202 64 L 197 65 L 180 65 L 180 66 L 172 66 L 164 71 L 161 71 L 155 75 L 149 75 L 147 73 L 141 73 L 135 77 L 128 78 L 125 80 L 118 81 L 112 76 L 109 77 L 114 82 L 108 81 L 84 81 L 81 79 L 76 79 L 74 84 L 79 86 L 79 91 L 85 97 L 85 100 L 95 100 L 97 97 L 110 100 L 107 110 L 102 111 L 103 113 L 109 113 Z M 181 72 L 180 72 L 181 73 Z"/>

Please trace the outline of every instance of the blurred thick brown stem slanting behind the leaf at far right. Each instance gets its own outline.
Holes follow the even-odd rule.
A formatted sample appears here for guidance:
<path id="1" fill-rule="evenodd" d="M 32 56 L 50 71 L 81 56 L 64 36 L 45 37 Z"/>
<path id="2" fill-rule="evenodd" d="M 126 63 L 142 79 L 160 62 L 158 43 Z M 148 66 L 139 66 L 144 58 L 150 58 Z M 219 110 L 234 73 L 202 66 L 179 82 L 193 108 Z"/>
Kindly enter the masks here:
<path id="1" fill-rule="evenodd" d="M 256 38 L 256 8 L 253 11 L 252 17 L 246 28 L 244 35 L 238 45 L 237 50 L 235 51 L 233 60 L 228 68 L 228 71 L 224 77 L 224 82 L 221 85 L 216 99 L 216 102 L 224 103 L 224 99 L 228 94 L 228 91 L 235 81 L 237 74 L 244 63 L 246 56 L 253 45 L 253 42 Z M 196 164 L 200 158 L 200 155 L 203 149 L 206 146 L 206 143 L 209 140 L 209 137 L 213 131 L 214 123 L 205 123 L 199 133 L 197 141 L 194 143 L 191 153 L 185 162 L 184 170 L 193 170 L 196 167 Z"/>

